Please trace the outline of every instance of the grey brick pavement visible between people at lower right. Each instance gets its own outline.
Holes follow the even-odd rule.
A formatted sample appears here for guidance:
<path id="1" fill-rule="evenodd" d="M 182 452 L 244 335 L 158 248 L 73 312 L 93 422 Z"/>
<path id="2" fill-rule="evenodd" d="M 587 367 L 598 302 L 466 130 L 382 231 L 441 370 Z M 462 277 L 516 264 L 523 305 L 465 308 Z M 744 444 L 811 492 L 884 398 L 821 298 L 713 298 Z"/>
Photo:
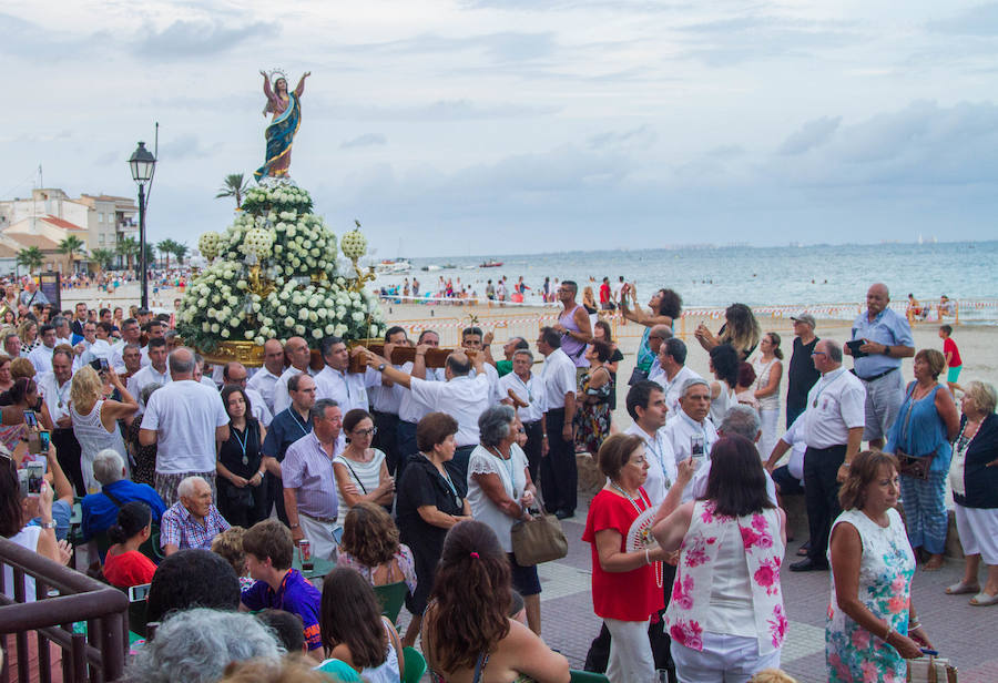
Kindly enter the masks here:
<path id="1" fill-rule="evenodd" d="M 581 669 L 589 643 L 599 633 L 600 620 L 592 612 L 590 548 L 581 541 L 588 504 L 563 522 L 569 553 L 558 562 L 540 567 L 541 612 L 544 641 L 562 652 L 572 669 Z M 793 553 L 800 542 L 790 543 Z M 794 558 L 795 559 L 795 558 Z M 787 558 L 787 563 L 793 561 Z M 974 608 L 969 595 L 946 595 L 945 587 L 963 577 L 963 560 L 949 559 L 941 571 L 918 571 L 913 600 L 933 644 L 960 672 L 961 683 L 998 683 L 998 648 L 990 649 L 990 633 L 998 624 L 998 606 Z M 980 577 L 984 581 L 984 573 Z M 801 683 L 819 683 L 825 674 L 825 614 L 828 606 L 828 572 L 782 575 L 784 603 L 791 620 L 783 649 L 783 667 Z"/>

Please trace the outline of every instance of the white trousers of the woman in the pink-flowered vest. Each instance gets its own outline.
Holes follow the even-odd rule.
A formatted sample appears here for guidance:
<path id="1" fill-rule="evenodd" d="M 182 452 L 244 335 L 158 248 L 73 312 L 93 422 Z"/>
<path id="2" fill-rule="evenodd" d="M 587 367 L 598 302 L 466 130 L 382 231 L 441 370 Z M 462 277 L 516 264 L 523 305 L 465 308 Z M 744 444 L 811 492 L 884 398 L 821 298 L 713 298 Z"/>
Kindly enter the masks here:
<path id="1" fill-rule="evenodd" d="M 758 654 L 758 640 L 703 632 L 703 651 L 672 641 L 670 648 L 680 683 L 746 683 L 763 669 L 780 669 L 780 650 Z"/>

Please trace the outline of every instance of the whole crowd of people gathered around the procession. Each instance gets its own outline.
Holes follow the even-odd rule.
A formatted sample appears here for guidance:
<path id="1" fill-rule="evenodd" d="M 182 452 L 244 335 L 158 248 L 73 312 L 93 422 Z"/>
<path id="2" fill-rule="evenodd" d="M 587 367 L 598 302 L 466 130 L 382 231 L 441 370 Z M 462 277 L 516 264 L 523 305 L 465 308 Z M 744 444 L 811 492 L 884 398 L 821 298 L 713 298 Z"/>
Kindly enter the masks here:
<path id="1" fill-rule="evenodd" d="M 870 287 L 844 344 L 795 316 L 785 371 L 780 335 L 733 304 L 720 329 L 695 330 L 705 378 L 673 335 L 680 295 L 660 289 L 642 306 L 621 283 L 612 307 L 644 327 L 627 428 L 612 412 L 623 356 L 611 327 L 576 283 L 553 296 L 557 323 L 506 340 L 498 360 L 492 334 L 472 325 L 444 367 L 428 367 L 439 335 L 390 327 L 381 354 L 324 338 L 320 368 L 304 338 L 271 339 L 253 371 L 206 367 L 167 316 L 63 313 L 39 308 L 33 284 L 8 290 L 3 536 L 67 563 L 82 499 L 90 571 L 120 588 L 150 583 L 150 620 L 163 621 L 131 664 L 136 681 L 307 661 L 285 653 L 334 680 L 396 681 L 418 639 L 435 680 L 567 681 L 567 661 L 540 638 L 537 567 L 517 561 L 512 536 L 539 513 L 576 516 L 583 452 L 607 478 L 582 534 L 604 622 L 587 667 L 611 681 L 778 669 L 781 500 L 802 491 L 809 538 L 790 569 L 832 570 L 833 680 L 866 680 L 873 663 L 878 680 L 902 681 L 904 660 L 930 646 L 910 579 L 916 553 L 927 571 L 943 562 L 947 480 L 967 553 L 948 592 L 998 603 L 995 389 L 959 385 L 958 411 L 938 381 L 951 351 L 916 354 L 886 286 Z M 411 360 L 393 363 L 400 347 Z M 20 472 L 34 463 L 45 482 L 29 493 Z M 303 573 L 309 552 L 336 562 L 320 587 Z M 381 616 L 388 590 L 405 594 L 404 633 Z M 279 628 L 287 619 L 296 625 Z M 193 623 L 212 633 L 192 634 Z"/>

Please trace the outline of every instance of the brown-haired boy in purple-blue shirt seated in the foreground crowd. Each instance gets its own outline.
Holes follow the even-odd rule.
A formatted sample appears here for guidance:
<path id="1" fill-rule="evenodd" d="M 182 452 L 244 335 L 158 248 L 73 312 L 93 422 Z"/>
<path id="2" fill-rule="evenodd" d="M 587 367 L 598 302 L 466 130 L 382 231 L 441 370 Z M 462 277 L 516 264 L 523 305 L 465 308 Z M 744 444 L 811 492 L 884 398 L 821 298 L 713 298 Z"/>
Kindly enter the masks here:
<path id="1" fill-rule="evenodd" d="M 291 531 L 276 519 L 265 519 L 243 536 L 243 551 L 249 575 L 256 583 L 243 591 L 240 610 L 276 609 L 297 614 L 308 654 L 323 660 L 319 633 L 320 593 L 297 570 L 292 569 L 295 544 Z"/>

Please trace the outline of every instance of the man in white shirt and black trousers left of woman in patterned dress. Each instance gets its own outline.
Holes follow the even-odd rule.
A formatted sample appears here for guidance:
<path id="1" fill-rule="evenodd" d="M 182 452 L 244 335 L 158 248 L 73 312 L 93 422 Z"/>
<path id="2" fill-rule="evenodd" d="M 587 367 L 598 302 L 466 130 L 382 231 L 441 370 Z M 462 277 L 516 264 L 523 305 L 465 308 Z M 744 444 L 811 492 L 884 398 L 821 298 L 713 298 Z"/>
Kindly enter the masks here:
<path id="1" fill-rule="evenodd" d="M 547 456 L 541 459 L 541 490 L 544 508 L 558 519 L 576 513 L 579 471 L 576 469 L 576 438 L 572 418 L 576 415 L 576 364 L 561 350 L 561 334 L 553 327 L 542 327 L 537 350 L 544 357 L 541 377 L 544 380 L 544 444 Z"/>

